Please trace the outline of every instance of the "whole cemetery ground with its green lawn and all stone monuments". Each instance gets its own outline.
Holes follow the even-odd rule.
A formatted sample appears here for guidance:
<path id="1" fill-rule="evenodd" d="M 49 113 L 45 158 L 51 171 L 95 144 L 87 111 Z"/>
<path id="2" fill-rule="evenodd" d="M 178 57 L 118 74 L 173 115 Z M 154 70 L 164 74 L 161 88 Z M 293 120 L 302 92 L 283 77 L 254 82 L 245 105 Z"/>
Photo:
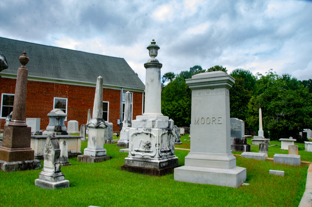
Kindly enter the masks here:
<path id="1" fill-rule="evenodd" d="M 131 119 L 125 93 L 120 138 L 103 119 L 101 76 L 90 93 L 92 116 L 91 110 L 85 113 L 80 130 L 76 120 L 68 120 L 66 128 L 67 114 L 53 109 L 42 135 L 32 134 L 41 128 L 38 119 L 25 121 L 24 51 L 0 147 L 1 205 L 298 206 L 311 187 L 306 186 L 310 143 L 265 138 L 261 108 L 258 136 L 246 138 L 244 121 L 230 118 L 235 79 L 223 71 L 186 80 L 193 118 L 191 135 L 186 134 L 162 114 L 159 46 L 153 39 L 147 49 L 144 113 Z M 127 153 L 119 151 L 126 147 Z"/>

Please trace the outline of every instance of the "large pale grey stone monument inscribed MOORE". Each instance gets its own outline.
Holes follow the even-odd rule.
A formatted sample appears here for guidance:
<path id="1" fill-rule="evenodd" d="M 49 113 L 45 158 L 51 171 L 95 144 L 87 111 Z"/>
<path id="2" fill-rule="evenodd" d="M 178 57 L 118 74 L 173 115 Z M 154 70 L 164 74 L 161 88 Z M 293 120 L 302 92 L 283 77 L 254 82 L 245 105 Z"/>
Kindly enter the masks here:
<path id="1" fill-rule="evenodd" d="M 174 180 L 235 188 L 246 180 L 246 168 L 236 166 L 231 152 L 229 89 L 234 81 L 222 71 L 186 79 L 192 90 L 191 149 L 185 165 L 174 169 Z"/>

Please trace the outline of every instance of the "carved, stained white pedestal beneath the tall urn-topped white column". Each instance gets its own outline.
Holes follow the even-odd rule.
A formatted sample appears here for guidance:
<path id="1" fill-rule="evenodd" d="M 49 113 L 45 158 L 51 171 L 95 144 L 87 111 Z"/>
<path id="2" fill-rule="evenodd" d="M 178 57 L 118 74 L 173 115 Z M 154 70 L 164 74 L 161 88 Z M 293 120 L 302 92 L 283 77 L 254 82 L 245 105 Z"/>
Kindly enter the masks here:
<path id="1" fill-rule="evenodd" d="M 160 115 L 137 116 L 129 129 L 129 156 L 121 170 L 161 176 L 179 166 L 174 155 L 173 121 Z"/>

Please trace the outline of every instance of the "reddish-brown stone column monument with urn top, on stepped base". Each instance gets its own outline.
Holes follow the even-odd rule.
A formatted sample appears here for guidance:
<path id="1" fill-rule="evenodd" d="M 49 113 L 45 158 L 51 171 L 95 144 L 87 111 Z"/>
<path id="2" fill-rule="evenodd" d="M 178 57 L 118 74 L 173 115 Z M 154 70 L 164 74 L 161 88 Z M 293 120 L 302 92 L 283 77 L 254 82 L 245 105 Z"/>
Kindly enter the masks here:
<path id="1" fill-rule="evenodd" d="M 34 159 L 34 150 L 30 147 L 31 128 L 27 127 L 25 122 L 28 77 L 25 65 L 29 61 L 26 51 L 19 57 L 19 61 L 22 66 L 18 68 L 17 72 L 12 119 L 8 126 L 4 126 L 2 146 L 0 147 L 0 168 L 3 171 L 41 167 L 41 162 Z"/>

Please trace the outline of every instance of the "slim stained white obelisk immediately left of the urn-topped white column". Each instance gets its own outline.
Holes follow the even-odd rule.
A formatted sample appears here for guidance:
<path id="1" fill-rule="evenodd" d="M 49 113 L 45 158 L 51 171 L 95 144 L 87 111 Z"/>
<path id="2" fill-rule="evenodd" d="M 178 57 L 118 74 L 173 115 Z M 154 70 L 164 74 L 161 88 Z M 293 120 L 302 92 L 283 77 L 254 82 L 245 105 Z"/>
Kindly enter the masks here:
<path id="1" fill-rule="evenodd" d="M 124 104 L 124 119 L 122 122 L 122 129 L 120 131 L 120 138 L 117 147 L 129 147 L 129 129 L 131 128 L 131 93 L 126 92 Z"/>

